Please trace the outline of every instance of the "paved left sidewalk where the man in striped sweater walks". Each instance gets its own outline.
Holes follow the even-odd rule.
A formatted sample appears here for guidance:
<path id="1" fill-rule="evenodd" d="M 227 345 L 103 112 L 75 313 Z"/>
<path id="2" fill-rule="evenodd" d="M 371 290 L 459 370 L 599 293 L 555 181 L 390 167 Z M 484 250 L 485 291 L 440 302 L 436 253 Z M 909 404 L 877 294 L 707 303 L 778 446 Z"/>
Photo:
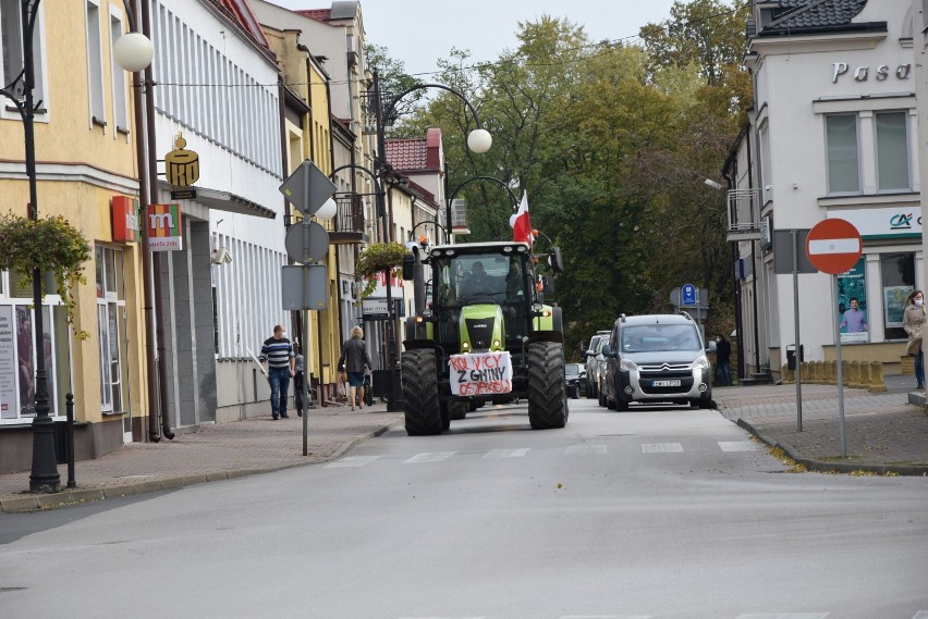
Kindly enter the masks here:
<path id="1" fill-rule="evenodd" d="M 36 511 L 62 504 L 98 500 L 184 487 L 323 462 L 353 445 L 387 432 L 403 420 L 387 405 L 352 411 L 347 406 L 310 409 L 307 456 L 303 455 L 303 419 L 256 417 L 204 425 L 173 441 L 133 443 L 94 460 L 74 463 L 76 488 L 65 488 L 68 467 L 58 467 L 62 492 L 29 494 L 29 471 L 0 475 L 0 512 Z"/>

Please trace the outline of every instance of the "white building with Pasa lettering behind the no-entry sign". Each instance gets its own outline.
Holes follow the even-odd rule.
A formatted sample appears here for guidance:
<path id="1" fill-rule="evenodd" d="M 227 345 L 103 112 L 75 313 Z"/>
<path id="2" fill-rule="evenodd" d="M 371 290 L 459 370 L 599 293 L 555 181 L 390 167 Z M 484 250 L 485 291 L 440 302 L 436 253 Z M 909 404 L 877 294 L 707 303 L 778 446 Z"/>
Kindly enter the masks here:
<path id="1" fill-rule="evenodd" d="M 755 107 L 725 166 L 741 375 L 779 376 L 796 297 L 806 361 L 835 358 L 838 324 L 844 359 L 899 373 L 905 299 L 924 287 L 912 1 L 758 1 L 752 17 Z M 795 295 L 791 231 L 829 218 L 857 227 L 863 256 L 798 274 Z M 852 301 L 864 321 L 845 321 Z"/>

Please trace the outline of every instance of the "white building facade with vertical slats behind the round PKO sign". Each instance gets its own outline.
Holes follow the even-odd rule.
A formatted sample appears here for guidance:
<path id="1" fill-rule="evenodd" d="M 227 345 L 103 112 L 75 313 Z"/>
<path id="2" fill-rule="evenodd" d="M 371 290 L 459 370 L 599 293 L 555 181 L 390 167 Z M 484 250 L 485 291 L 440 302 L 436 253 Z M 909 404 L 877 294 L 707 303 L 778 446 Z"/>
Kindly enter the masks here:
<path id="1" fill-rule="evenodd" d="M 175 187 L 163 164 L 158 170 L 159 201 L 180 203 L 184 237 L 183 249 L 161 261 L 162 408 L 180 428 L 266 414 L 269 388 L 252 354 L 274 324 L 289 324 L 280 290 L 286 256 L 278 67 L 244 0 L 150 7 L 151 150 L 163 160 L 182 135 L 199 163 L 190 199 L 172 199 Z"/>

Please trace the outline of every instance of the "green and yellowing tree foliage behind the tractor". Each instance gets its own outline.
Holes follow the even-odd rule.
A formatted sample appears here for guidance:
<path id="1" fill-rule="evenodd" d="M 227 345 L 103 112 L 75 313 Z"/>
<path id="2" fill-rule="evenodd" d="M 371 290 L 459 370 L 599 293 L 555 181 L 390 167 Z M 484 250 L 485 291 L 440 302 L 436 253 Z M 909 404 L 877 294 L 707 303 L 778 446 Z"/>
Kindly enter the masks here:
<path id="1" fill-rule="evenodd" d="M 582 26 L 542 15 L 520 24 L 518 45 L 468 67 L 453 50 L 437 79 L 462 92 L 493 136 L 467 150 L 476 124 L 459 97 L 430 94 L 399 131 L 440 127 L 449 191 L 492 176 L 528 197 L 536 251 L 561 247 L 569 355 L 620 313 L 671 311 L 683 283 L 710 290 L 708 327 L 731 331 L 731 246 L 720 170 L 750 106 L 745 0 L 676 2 L 642 29 L 642 46 L 593 42 Z M 472 234 L 511 238 L 511 199 L 499 184 L 466 183 Z"/>

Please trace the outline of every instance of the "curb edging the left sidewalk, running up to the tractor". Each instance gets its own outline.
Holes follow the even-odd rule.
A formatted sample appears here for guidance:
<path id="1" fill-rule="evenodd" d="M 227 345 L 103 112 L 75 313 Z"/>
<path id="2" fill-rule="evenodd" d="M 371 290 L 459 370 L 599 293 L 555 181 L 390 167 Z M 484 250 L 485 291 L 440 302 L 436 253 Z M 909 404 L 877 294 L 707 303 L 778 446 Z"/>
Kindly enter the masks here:
<path id="1" fill-rule="evenodd" d="M 252 475 L 260 475 L 264 473 L 272 473 L 284 469 L 294 469 L 296 467 L 305 467 L 308 465 L 319 465 L 329 462 L 340 458 L 345 451 L 352 447 L 376 438 L 381 434 L 401 428 L 404 421 L 398 420 L 380 428 L 355 436 L 342 443 L 334 451 L 328 456 L 318 457 L 312 462 L 296 462 L 293 465 L 281 465 L 279 467 L 267 467 L 261 469 L 236 469 L 232 471 L 216 471 L 211 473 L 195 473 L 179 475 L 176 478 L 166 478 L 158 481 L 147 481 L 137 484 L 125 484 L 118 486 L 109 486 L 103 488 L 66 488 L 54 494 L 25 494 L 22 497 L 0 499 L 0 513 L 29 513 L 35 511 L 45 511 L 48 509 L 57 509 L 70 505 L 78 505 L 89 503 L 91 500 L 106 500 L 107 498 L 119 498 L 123 496 L 133 496 L 136 494 L 148 494 L 152 492 L 180 490 L 183 487 L 200 485 L 210 482 L 221 482 L 227 480 L 235 480 Z"/>

